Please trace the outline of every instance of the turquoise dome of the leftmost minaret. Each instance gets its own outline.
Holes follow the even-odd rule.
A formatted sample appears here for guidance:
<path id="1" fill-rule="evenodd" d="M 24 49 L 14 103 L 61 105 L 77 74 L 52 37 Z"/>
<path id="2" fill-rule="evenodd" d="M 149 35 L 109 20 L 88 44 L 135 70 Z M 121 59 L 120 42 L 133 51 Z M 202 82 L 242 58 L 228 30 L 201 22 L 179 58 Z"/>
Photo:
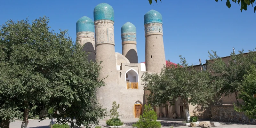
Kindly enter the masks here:
<path id="1" fill-rule="evenodd" d="M 86 31 L 94 32 L 94 23 L 89 17 L 83 16 L 76 21 L 76 33 Z"/>

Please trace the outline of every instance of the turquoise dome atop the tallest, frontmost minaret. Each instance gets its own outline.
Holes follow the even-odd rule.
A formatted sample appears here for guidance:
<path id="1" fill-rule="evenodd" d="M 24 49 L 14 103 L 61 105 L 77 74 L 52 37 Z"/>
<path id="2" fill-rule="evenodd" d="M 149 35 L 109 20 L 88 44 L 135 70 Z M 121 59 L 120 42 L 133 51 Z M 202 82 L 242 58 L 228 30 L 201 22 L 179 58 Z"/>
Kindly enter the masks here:
<path id="1" fill-rule="evenodd" d="M 93 18 L 96 20 L 114 21 L 114 9 L 106 3 L 98 4 L 93 10 Z"/>

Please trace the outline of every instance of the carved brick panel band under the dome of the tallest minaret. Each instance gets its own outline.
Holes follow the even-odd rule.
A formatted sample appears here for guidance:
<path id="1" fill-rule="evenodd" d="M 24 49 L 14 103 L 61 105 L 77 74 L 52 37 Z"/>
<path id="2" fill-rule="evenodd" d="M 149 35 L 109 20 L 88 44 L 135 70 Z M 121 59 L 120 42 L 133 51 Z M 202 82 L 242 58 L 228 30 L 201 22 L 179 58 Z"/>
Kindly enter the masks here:
<path id="1" fill-rule="evenodd" d="M 112 44 L 114 41 L 114 22 L 111 20 L 96 20 L 95 25 L 95 45 Z"/>

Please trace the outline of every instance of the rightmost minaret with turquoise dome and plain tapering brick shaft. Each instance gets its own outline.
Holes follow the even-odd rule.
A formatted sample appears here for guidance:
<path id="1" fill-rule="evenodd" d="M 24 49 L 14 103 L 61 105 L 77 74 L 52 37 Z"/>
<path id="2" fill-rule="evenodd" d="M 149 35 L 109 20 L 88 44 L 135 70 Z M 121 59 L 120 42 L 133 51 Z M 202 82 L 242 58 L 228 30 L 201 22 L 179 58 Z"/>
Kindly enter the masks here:
<path id="1" fill-rule="evenodd" d="M 146 71 L 159 73 L 166 65 L 162 15 L 155 10 L 150 10 L 144 15 L 144 27 L 146 38 Z"/>

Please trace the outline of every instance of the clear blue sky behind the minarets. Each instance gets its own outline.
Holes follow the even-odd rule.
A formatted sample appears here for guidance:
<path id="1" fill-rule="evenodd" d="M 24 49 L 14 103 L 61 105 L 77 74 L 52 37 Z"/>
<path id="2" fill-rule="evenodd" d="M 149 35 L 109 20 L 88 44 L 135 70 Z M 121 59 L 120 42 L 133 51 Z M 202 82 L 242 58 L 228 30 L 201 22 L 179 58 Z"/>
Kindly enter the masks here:
<path id="1" fill-rule="evenodd" d="M 122 53 L 121 27 L 127 21 L 137 28 L 139 62 L 145 61 L 144 14 L 154 9 L 163 16 L 164 50 L 166 60 L 179 63 L 179 55 L 189 64 L 199 64 L 209 59 L 208 51 L 217 51 L 220 57 L 228 56 L 232 47 L 252 50 L 256 47 L 256 13 L 253 7 L 240 12 L 236 3 L 231 9 L 226 1 L 215 0 L 162 0 L 149 5 L 148 0 L 4 0 L 1 1 L 0 24 L 7 20 L 29 20 L 47 16 L 52 29 L 68 29 L 72 40 L 76 39 L 76 21 L 87 16 L 93 20 L 97 4 L 108 3 L 115 12 L 115 51 Z"/>

